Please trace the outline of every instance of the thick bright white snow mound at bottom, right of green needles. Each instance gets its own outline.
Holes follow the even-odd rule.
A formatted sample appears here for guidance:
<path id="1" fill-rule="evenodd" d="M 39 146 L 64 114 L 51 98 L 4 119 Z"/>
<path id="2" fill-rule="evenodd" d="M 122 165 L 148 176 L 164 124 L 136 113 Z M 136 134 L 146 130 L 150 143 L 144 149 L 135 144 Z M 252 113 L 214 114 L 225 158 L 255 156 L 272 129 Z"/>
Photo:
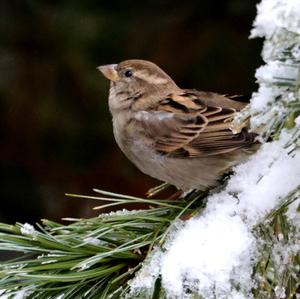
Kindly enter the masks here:
<path id="1" fill-rule="evenodd" d="M 253 287 L 254 237 L 231 206 L 223 208 L 190 220 L 171 243 L 161 270 L 169 298 L 183 298 L 187 288 L 204 298 L 228 298 L 232 282 L 247 292 Z"/>

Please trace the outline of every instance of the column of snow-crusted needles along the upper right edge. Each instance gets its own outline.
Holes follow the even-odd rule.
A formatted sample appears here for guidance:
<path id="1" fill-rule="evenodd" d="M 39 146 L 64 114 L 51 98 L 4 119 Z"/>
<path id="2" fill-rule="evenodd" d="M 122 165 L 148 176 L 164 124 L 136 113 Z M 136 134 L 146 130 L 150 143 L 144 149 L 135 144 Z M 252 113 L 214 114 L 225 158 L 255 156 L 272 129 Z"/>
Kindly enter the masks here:
<path id="1" fill-rule="evenodd" d="M 265 37 L 262 57 L 265 65 L 257 69 L 258 92 L 251 100 L 251 126 L 283 122 L 288 104 L 299 99 L 300 84 L 300 0 L 262 0 L 250 37 Z M 284 53 L 290 49 L 291 55 Z M 276 83 L 280 83 L 275 85 Z M 278 101 L 278 99 L 280 99 Z"/>

